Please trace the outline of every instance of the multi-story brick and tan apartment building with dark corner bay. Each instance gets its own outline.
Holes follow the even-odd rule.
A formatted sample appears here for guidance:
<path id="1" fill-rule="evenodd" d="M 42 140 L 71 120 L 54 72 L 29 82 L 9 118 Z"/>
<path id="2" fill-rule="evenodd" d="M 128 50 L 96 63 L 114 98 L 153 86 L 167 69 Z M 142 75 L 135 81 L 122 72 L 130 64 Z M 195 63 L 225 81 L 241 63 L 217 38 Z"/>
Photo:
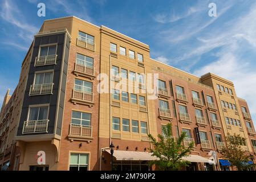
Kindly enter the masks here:
<path id="1" fill-rule="evenodd" d="M 228 134 L 256 151 L 249 108 L 231 81 L 170 67 L 147 44 L 74 16 L 44 21 L 0 119 L 0 164 L 10 170 L 109 170 L 111 142 L 115 169 L 148 170 L 148 134 L 167 123 L 174 139 L 185 132 L 184 145 L 194 142 L 188 170 L 230 169 L 220 154 Z"/>

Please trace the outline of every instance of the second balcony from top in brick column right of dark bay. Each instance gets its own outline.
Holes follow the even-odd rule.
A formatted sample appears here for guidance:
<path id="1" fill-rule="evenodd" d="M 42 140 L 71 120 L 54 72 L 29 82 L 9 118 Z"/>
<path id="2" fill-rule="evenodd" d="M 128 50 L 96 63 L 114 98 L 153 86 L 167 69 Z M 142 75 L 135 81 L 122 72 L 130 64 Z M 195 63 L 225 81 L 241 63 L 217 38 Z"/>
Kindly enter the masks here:
<path id="1" fill-rule="evenodd" d="M 76 76 L 88 77 L 91 80 L 93 80 L 95 78 L 94 67 L 84 65 L 84 64 L 79 64 L 79 63 L 75 63 L 74 74 Z"/>

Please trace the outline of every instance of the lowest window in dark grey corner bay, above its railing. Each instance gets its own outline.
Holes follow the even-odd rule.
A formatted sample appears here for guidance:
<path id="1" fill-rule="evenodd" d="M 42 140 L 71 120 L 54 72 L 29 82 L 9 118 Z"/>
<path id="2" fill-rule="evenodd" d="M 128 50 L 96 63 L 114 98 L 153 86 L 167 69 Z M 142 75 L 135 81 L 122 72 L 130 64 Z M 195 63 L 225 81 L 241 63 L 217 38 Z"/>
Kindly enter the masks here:
<path id="1" fill-rule="evenodd" d="M 30 107 L 28 121 L 38 121 L 47 119 L 48 106 Z"/>

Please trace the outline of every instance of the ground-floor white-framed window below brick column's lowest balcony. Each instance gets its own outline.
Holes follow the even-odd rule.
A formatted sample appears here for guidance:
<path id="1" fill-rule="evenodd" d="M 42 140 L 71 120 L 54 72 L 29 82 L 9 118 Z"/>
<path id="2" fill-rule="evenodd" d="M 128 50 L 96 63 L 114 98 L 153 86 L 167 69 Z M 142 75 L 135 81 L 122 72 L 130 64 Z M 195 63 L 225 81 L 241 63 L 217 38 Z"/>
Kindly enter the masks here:
<path id="1" fill-rule="evenodd" d="M 70 154 L 70 171 L 87 171 L 88 154 Z"/>

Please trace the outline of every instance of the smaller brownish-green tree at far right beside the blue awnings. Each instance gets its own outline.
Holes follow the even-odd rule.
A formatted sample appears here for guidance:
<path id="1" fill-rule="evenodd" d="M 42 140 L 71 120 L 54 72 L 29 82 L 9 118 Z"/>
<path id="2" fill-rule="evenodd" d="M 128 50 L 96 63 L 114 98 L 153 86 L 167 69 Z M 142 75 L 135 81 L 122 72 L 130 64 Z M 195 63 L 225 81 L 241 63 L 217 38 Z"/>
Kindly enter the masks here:
<path id="1" fill-rule="evenodd" d="M 245 141 L 239 134 L 234 134 L 234 136 L 227 134 L 226 142 L 227 146 L 221 151 L 222 158 L 229 160 L 231 166 L 237 167 L 238 171 L 254 167 L 254 164 L 248 164 L 250 155 L 247 155 L 246 151 L 242 149 L 241 145 Z"/>

